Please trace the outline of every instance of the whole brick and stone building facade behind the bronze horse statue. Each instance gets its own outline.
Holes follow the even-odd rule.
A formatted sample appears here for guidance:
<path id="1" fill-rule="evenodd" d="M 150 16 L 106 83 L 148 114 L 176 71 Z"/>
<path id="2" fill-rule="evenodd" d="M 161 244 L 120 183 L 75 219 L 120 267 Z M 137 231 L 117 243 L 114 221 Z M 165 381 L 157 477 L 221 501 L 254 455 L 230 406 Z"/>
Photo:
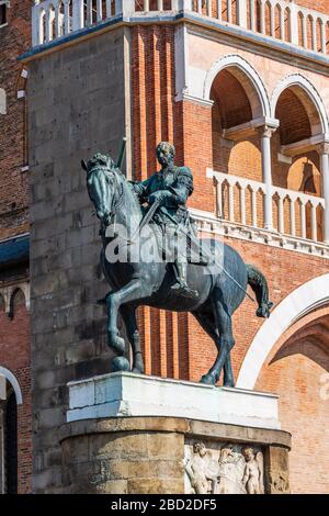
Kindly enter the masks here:
<path id="1" fill-rule="evenodd" d="M 56 433 L 66 383 L 109 370 L 105 314 L 94 306 L 106 290 L 98 223 L 79 164 L 95 150 L 115 154 L 126 134 L 127 176 L 147 178 L 157 169 L 156 144 L 173 142 L 177 162 L 194 173 L 190 207 L 200 228 L 266 276 L 275 304 L 269 321 L 248 300 L 234 316 L 237 386 L 280 395 L 282 427 L 293 435 L 292 492 L 328 492 L 328 2 L 225 0 L 218 13 L 209 0 L 126 1 L 123 15 L 121 2 L 111 12 L 105 2 L 102 11 L 100 2 L 84 11 L 75 11 L 78 0 L 53 3 L 41 2 L 30 23 L 30 5 L 20 12 L 11 1 L 0 27 L 4 242 L 29 231 L 29 176 L 31 184 L 33 490 L 60 492 Z M 18 26 L 20 36 L 9 37 Z M 12 274 L 3 289 L 15 292 Z M 16 379 L 29 420 L 24 310 L 21 303 L 21 319 L 3 311 L 0 368 Z M 144 309 L 138 319 L 146 373 L 198 381 L 212 364 L 214 344 L 190 315 Z M 22 354 L 10 358 L 10 341 Z"/>

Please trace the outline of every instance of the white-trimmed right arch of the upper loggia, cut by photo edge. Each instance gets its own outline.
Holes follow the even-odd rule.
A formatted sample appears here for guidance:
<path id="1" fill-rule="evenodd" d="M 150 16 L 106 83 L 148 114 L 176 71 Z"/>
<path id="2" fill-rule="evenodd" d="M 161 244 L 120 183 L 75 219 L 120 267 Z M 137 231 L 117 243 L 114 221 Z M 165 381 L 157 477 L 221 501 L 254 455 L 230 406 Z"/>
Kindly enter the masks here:
<path id="1" fill-rule="evenodd" d="M 277 101 L 286 89 L 292 89 L 304 104 L 311 123 L 313 135 L 328 134 L 329 123 L 324 101 L 313 83 L 300 74 L 288 75 L 276 85 L 271 98 L 271 115 L 275 117 Z"/>

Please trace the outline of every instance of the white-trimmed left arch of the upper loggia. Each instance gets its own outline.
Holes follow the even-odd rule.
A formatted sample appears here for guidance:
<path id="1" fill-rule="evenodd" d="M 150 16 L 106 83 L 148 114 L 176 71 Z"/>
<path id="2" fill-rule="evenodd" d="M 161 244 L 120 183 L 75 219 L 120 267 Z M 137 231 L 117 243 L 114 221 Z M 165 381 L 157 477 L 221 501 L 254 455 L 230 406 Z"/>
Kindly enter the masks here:
<path id="1" fill-rule="evenodd" d="M 263 81 L 256 69 L 237 54 L 222 57 L 213 64 L 205 77 L 203 98 L 211 100 L 212 85 L 217 75 L 226 68 L 229 68 L 229 71 L 235 75 L 237 79 L 245 79 L 243 87 L 246 88 L 253 117 L 269 117 L 271 115 L 270 101 Z"/>

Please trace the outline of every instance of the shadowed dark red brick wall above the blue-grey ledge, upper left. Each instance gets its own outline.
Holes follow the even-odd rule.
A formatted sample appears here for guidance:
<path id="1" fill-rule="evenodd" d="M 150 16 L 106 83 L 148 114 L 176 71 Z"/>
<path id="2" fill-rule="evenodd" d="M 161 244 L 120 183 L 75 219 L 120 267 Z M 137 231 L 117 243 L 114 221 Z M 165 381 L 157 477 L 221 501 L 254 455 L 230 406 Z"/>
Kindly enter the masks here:
<path id="1" fill-rule="evenodd" d="M 32 0 L 11 0 L 8 26 L 0 29 L 0 88 L 7 93 L 7 114 L 0 114 L 0 239 L 29 229 L 26 113 L 22 65 L 18 56 L 30 47 Z"/>

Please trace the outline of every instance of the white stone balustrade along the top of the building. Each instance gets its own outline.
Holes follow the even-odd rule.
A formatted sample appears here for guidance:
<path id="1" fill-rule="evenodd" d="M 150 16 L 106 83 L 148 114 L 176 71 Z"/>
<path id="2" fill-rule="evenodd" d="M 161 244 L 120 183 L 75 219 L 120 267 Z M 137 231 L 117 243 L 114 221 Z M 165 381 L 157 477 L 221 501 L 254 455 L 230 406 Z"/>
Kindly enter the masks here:
<path id="1" fill-rule="evenodd" d="M 33 46 L 116 15 L 181 10 L 316 53 L 329 52 L 329 15 L 286 0 L 35 0 Z"/>

